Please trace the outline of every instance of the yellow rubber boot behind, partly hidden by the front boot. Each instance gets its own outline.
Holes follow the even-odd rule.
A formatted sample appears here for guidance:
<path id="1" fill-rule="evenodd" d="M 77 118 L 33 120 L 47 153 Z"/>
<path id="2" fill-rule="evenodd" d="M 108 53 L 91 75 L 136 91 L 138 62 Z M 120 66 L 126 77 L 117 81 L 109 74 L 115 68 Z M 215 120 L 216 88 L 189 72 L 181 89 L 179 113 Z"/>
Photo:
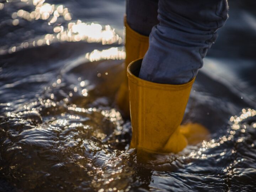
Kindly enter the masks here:
<path id="1" fill-rule="evenodd" d="M 124 18 L 124 26 L 126 27 L 126 60 L 125 67 L 132 61 L 144 57 L 149 46 L 149 37 L 141 35 L 133 31 L 127 24 L 126 18 Z M 116 96 L 116 102 L 118 107 L 122 110 L 125 116 L 129 116 L 129 91 L 128 91 L 128 79 L 127 75 L 124 77 Z"/>

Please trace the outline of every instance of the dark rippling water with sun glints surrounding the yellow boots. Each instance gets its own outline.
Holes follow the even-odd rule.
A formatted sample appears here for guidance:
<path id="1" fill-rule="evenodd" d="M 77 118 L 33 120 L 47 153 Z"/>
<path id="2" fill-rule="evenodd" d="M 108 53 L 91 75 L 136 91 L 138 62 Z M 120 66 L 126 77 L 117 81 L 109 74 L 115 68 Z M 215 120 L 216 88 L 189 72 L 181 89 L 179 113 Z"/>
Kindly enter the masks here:
<path id="1" fill-rule="evenodd" d="M 0 2 L 0 191 L 255 191 L 255 1 L 229 2 L 191 92 L 212 140 L 150 164 L 113 103 L 124 1 Z"/>

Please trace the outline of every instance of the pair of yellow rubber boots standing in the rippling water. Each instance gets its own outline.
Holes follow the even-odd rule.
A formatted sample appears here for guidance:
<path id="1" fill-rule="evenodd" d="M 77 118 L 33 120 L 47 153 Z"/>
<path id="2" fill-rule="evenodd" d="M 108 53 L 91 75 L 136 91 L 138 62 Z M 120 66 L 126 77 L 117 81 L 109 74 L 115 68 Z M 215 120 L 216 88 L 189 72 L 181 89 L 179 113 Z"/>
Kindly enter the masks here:
<path id="1" fill-rule="evenodd" d="M 208 136 L 200 124 L 180 126 L 194 79 L 187 84 L 158 84 L 138 77 L 149 38 L 126 27 L 127 77 L 119 88 L 117 105 L 130 113 L 130 148 L 153 153 L 178 153 L 188 143 L 196 144 Z M 129 84 L 129 87 L 128 87 Z"/>

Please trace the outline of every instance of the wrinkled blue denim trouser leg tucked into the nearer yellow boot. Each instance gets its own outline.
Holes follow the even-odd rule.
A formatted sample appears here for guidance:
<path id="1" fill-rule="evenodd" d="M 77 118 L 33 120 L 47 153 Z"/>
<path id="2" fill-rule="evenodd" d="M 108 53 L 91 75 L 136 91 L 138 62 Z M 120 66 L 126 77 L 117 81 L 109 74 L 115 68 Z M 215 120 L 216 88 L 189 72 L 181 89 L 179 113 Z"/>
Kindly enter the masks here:
<path id="1" fill-rule="evenodd" d="M 141 10 L 139 14 L 150 13 Z M 139 77 L 164 84 L 183 84 L 193 79 L 217 38 L 217 29 L 227 18 L 226 0 L 159 0 L 159 24 L 150 33 Z"/>

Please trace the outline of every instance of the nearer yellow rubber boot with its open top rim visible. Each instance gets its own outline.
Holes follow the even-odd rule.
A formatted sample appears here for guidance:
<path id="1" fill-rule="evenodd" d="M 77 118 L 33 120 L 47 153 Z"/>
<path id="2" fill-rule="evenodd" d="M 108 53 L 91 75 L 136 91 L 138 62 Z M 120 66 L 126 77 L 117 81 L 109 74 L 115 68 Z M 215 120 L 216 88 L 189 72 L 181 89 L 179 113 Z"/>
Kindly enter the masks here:
<path id="1" fill-rule="evenodd" d="M 142 59 L 135 60 L 127 69 L 132 122 L 130 148 L 178 153 L 188 144 L 186 137 L 196 142 L 197 138 L 190 135 L 193 126 L 197 127 L 195 134 L 199 131 L 203 136 L 208 135 L 201 125 L 180 126 L 194 79 L 182 85 L 146 81 L 138 78 L 141 63 Z M 206 137 L 199 139 L 202 138 Z"/>

